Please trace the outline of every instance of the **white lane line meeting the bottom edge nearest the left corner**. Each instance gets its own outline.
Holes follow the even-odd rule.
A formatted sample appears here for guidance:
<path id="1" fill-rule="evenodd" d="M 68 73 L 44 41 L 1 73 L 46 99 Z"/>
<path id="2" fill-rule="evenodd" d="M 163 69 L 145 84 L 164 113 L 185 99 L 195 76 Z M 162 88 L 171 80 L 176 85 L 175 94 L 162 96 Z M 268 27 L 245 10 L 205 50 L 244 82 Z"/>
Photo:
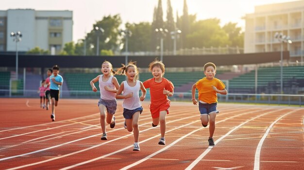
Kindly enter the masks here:
<path id="1" fill-rule="evenodd" d="M 180 116 L 180 115 L 177 115 L 177 116 Z M 167 124 L 170 124 L 170 123 L 173 123 L 173 122 L 177 122 L 177 121 L 181 121 L 181 120 L 185 120 L 185 119 L 189 119 L 189 118 L 192 118 L 192 117 L 196 117 L 197 115 L 195 116 L 191 116 L 191 117 L 186 117 L 186 118 L 182 118 L 182 119 L 177 119 L 177 120 L 174 120 L 174 121 L 170 121 L 168 122 Z M 171 116 L 173 117 L 173 116 Z M 151 122 L 149 123 L 146 123 L 146 124 L 151 124 Z M 144 126 L 146 124 L 141 124 L 139 126 Z M 148 130 L 151 130 L 153 129 L 154 127 L 150 127 L 148 129 L 145 129 L 145 130 L 142 130 L 140 132 L 144 132 L 144 131 L 148 131 Z M 120 129 L 124 129 L 124 127 L 120 128 Z M 117 130 L 117 129 L 116 129 Z M 114 130 L 113 130 L 114 131 Z M 139 133 L 140 133 L 139 132 Z M 101 134 L 98 134 L 98 135 L 101 135 Z M 15 167 L 15 168 L 11 168 L 11 169 L 8 169 L 8 170 L 17 170 L 17 169 L 20 169 L 20 168 L 25 168 L 25 167 L 30 167 L 30 166 L 33 166 L 33 165 L 37 165 L 37 164 L 42 164 L 42 163 L 45 163 L 45 162 L 49 162 L 49 161 L 52 161 L 52 160 L 56 160 L 56 159 L 59 159 L 59 158 L 63 158 L 63 157 L 67 157 L 67 156 L 70 156 L 70 155 L 75 155 L 75 154 L 78 154 L 78 153 L 82 153 L 84 151 L 87 151 L 87 150 L 90 150 L 90 149 L 93 149 L 93 148 L 96 148 L 96 147 L 99 147 L 101 145 L 105 145 L 107 143 L 110 143 L 110 142 L 113 142 L 113 141 L 116 141 L 116 140 L 119 140 L 119 139 L 124 139 L 126 137 L 129 137 L 133 135 L 132 133 L 128 134 L 128 135 L 125 135 L 125 136 L 122 136 L 122 137 L 119 137 L 119 138 L 116 138 L 116 139 L 113 139 L 113 140 L 109 140 L 109 141 L 106 141 L 106 142 L 103 142 L 101 144 L 98 144 L 98 145 L 95 145 L 95 146 L 92 146 L 90 148 L 86 148 L 86 149 L 83 149 L 83 150 L 80 150 L 80 151 L 76 151 L 76 152 L 73 152 L 73 153 L 70 153 L 70 154 L 67 154 L 67 155 L 61 155 L 61 156 L 58 156 L 58 157 L 55 157 L 55 158 L 52 158 L 52 159 L 48 159 L 48 160 L 44 160 L 44 161 L 40 161 L 40 162 L 35 162 L 35 163 L 32 163 L 32 164 L 27 164 L 27 165 L 23 165 L 23 166 L 19 166 L 19 167 Z M 158 135 L 159 136 L 159 135 Z M 133 145 L 132 145 L 133 146 Z M 106 157 L 106 156 L 105 156 Z M 0 159 L 1 160 L 1 159 Z"/>

